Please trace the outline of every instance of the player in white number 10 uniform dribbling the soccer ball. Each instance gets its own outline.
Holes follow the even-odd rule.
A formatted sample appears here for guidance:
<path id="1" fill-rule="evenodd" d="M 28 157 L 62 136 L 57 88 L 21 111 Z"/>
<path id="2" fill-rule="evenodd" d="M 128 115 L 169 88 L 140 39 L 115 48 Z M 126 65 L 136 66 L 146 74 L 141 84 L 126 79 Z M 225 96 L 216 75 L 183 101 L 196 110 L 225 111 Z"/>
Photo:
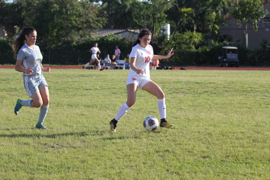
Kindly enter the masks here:
<path id="1" fill-rule="evenodd" d="M 142 30 L 137 41 L 133 44 L 130 53 L 130 70 L 127 79 L 128 100 L 118 110 L 115 118 L 110 121 L 111 131 L 116 132 L 116 124 L 134 105 L 136 92 L 140 88 L 158 98 L 158 110 L 160 113 L 160 127 L 171 128 L 172 124 L 166 121 L 165 95 L 162 89 L 150 79 L 149 62 L 156 59 L 170 58 L 173 48 L 167 55 L 154 55 L 153 48 L 149 45 L 152 33 L 149 30 Z"/>

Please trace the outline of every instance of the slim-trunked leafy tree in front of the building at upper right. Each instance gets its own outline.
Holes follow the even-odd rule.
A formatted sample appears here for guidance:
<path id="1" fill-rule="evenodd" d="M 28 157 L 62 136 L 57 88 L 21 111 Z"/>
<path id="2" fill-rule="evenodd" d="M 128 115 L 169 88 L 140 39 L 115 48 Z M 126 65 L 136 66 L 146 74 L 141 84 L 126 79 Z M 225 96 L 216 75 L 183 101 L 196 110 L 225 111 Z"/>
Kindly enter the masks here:
<path id="1" fill-rule="evenodd" d="M 239 28 L 244 30 L 245 44 L 247 44 L 247 25 L 251 23 L 253 30 L 258 31 L 259 19 L 268 14 L 267 10 L 263 9 L 259 0 L 239 0 L 238 5 L 234 10 L 234 17 Z"/>

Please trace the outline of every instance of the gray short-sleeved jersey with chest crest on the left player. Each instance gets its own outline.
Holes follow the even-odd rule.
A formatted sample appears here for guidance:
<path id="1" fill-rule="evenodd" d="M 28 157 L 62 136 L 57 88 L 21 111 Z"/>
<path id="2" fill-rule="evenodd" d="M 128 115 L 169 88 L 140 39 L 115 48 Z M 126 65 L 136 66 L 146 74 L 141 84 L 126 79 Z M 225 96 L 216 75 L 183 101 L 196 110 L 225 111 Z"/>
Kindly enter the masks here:
<path id="1" fill-rule="evenodd" d="M 26 69 L 32 67 L 31 75 L 41 74 L 42 54 L 37 45 L 34 45 L 34 49 L 32 49 L 24 44 L 19 50 L 17 60 L 22 61 L 23 67 Z M 23 76 L 28 75 L 23 73 Z"/>

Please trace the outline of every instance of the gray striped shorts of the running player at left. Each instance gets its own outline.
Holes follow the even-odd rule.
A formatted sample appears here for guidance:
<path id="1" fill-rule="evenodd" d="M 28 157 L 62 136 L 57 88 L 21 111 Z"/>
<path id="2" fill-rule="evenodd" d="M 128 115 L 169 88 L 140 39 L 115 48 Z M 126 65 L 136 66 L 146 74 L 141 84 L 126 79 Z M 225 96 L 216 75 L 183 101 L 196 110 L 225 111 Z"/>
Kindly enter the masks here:
<path id="1" fill-rule="evenodd" d="M 39 92 L 39 86 L 48 86 L 43 74 L 35 74 L 32 76 L 23 76 L 24 88 L 31 98 L 33 94 Z"/>

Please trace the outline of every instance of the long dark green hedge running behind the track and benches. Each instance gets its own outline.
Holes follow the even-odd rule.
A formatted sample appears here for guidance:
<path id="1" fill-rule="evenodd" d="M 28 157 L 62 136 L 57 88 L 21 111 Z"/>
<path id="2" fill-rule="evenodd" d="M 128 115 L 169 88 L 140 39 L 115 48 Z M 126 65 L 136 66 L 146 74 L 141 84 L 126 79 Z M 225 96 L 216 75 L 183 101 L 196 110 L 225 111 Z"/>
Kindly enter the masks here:
<path id="1" fill-rule="evenodd" d="M 13 52 L 9 46 L 7 38 L 0 38 L 0 64 L 15 64 L 16 60 L 13 58 Z M 86 41 L 67 41 L 61 45 L 56 46 L 54 49 L 46 49 L 46 46 L 40 42 L 37 45 L 41 49 L 43 55 L 43 64 L 51 65 L 78 65 L 85 64 L 91 58 L 91 54 L 88 52 L 94 43 L 98 43 L 98 47 L 101 50 L 101 58 L 104 59 L 107 54 L 110 57 L 114 54 L 115 46 L 118 46 L 121 50 L 120 59 L 124 59 L 127 53 L 131 52 L 132 43 L 121 37 L 107 36 L 94 40 Z M 179 42 L 180 43 L 180 42 Z M 191 42 L 192 43 L 192 42 Z M 222 46 L 228 45 L 226 42 L 215 44 L 212 43 L 209 49 L 206 46 L 197 44 L 192 48 L 184 49 L 182 44 L 173 44 L 176 46 L 174 49 L 174 55 L 167 60 L 161 61 L 162 66 L 218 66 L 218 56 L 221 55 Z M 157 44 L 152 45 L 157 54 L 165 54 L 168 50 L 158 49 Z M 177 48 L 177 47 L 181 47 Z M 270 49 L 264 48 L 256 49 L 252 51 L 250 48 L 236 44 L 238 47 L 238 58 L 240 66 L 270 66 Z"/>

